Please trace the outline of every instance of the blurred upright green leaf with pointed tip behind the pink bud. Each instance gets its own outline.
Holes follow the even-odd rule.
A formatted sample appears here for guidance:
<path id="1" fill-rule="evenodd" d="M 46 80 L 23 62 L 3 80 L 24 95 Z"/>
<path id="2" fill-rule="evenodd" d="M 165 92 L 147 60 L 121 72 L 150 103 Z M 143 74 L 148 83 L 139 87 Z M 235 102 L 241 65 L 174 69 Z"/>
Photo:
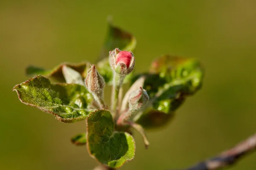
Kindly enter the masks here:
<path id="1" fill-rule="evenodd" d="M 108 58 L 108 52 L 115 48 L 122 51 L 134 51 L 136 44 L 136 38 L 132 34 L 113 26 L 112 20 L 108 20 L 108 31 L 99 59 Z"/>

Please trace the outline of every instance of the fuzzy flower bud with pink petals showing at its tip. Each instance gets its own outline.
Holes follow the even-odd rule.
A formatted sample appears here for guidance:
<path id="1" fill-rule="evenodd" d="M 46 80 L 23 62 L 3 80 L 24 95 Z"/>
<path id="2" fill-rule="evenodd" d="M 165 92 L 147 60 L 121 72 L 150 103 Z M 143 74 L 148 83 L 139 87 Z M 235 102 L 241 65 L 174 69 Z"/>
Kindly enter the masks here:
<path id="1" fill-rule="evenodd" d="M 127 75 L 134 69 L 135 59 L 131 51 L 121 51 L 118 48 L 109 51 L 110 65 L 116 73 Z"/>

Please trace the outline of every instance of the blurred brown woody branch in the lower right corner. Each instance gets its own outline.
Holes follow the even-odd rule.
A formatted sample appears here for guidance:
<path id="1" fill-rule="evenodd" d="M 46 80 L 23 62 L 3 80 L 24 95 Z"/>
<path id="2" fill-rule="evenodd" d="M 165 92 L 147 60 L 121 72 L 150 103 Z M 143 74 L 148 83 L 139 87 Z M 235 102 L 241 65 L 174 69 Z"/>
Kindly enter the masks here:
<path id="1" fill-rule="evenodd" d="M 228 167 L 238 161 L 242 156 L 256 149 L 256 133 L 247 140 L 237 144 L 230 150 L 226 150 L 215 158 L 202 161 L 185 170 L 217 170 Z"/>

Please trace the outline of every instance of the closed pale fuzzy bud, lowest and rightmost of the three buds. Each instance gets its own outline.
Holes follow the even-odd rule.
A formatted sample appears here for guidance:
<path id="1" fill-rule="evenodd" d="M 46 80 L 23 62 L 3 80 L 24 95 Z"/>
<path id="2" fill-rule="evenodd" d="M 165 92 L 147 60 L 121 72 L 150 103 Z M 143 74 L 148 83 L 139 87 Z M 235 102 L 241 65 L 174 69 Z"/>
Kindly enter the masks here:
<path id="1" fill-rule="evenodd" d="M 148 94 L 143 88 L 132 91 L 128 99 L 129 110 L 134 112 L 142 109 L 148 103 L 148 99 Z"/>

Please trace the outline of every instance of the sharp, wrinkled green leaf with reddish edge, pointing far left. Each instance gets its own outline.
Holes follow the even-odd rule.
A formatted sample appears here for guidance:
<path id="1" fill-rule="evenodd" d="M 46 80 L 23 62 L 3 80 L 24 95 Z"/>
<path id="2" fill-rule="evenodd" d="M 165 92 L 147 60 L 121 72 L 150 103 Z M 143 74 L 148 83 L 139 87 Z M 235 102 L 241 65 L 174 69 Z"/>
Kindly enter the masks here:
<path id="1" fill-rule="evenodd" d="M 13 89 L 21 102 L 52 113 L 61 122 L 84 120 L 93 109 L 93 98 L 86 88 L 78 84 L 51 84 L 49 79 L 37 76 Z"/>

